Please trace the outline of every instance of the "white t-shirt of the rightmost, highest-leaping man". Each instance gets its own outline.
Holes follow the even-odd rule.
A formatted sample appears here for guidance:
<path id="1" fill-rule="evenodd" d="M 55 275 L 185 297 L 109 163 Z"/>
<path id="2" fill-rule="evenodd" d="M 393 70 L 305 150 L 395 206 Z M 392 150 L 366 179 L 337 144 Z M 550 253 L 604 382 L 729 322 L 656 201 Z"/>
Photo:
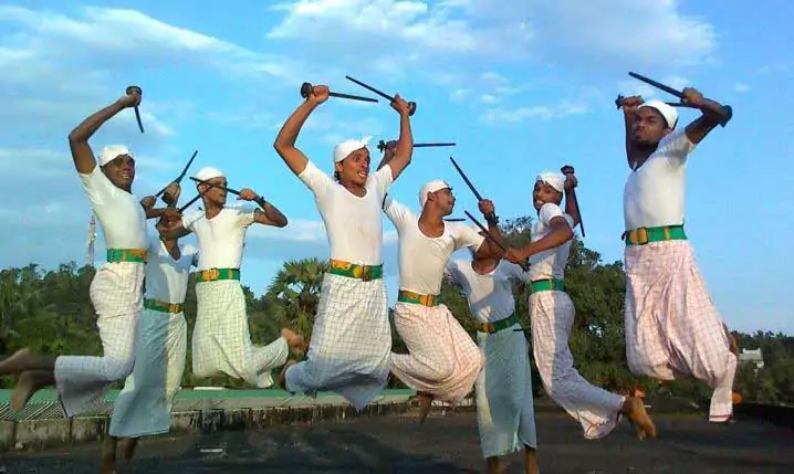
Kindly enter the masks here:
<path id="1" fill-rule="evenodd" d="M 679 128 L 631 171 L 623 192 L 625 230 L 683 223 L 687 157 L 693 149 L 686 128 Z"/>

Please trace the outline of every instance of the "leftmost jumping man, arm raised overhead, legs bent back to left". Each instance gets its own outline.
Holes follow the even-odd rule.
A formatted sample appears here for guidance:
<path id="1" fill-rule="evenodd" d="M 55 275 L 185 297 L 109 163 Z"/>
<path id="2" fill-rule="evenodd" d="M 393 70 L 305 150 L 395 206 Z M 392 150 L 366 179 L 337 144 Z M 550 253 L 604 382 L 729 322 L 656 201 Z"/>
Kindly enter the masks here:
<path id="1" fill-rule="evenodd" d="M 83 120 L 69 145 L 83 190 L 107 244 L 107 262 L 91 283 L 103 355 L 38 356 L 20 349 L 0 361 L 0 375 L 19 373 L 11 408 L 22 410 L 39 389 L 55 385 L 63 410 L 74 417 L 102 400 L 111 385 L 127 377 L 135 362 L 135 327 L 143 307 L 148 238 L 140 201 L 132 193 L 135 159 L 127 147 L 103 148 L 97 159 L 88 139 L 119 112 L 140 104 L 137 91 Z"/>

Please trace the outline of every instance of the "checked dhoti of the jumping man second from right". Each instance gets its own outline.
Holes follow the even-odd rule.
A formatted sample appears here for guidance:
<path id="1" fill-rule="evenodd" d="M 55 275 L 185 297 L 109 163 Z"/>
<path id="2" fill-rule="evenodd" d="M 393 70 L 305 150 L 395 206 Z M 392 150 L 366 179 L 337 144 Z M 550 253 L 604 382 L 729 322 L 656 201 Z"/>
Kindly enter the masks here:
<path id="1" fill-rule="evenodd" d="M 530 295 L 532 347 L 543 388 L 582 424 L 584 436 L 594 440 L 617 426 L 624 397 L 593 386 L 574 369 L 568 338 L 575 313 L 567 293 L 540 291 Z"/>

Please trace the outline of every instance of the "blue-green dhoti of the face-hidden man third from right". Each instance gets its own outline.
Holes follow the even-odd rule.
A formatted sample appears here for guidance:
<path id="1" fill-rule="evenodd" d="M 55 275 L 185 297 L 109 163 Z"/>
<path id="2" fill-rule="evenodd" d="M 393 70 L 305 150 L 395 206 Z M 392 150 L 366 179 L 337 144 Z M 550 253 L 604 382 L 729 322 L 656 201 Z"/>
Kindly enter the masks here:
<path id="1" fill-rule="evenodd" d="M 474 383 L 482 456 L 505 456 L 521 445 L 537 447 L 529 344 L 518 324 L 477 333 L 485 359 Z"/>

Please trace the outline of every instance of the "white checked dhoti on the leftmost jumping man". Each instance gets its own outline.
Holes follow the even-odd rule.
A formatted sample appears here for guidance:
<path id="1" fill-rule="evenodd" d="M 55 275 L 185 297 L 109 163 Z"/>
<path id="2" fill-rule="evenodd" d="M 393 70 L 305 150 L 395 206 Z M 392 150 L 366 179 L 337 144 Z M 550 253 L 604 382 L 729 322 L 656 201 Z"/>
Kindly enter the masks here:
<path id="1" fill-rule="evenodd" d="M 55 385 L 66 417 L 72 418 L 107 394 L 135 362 L 135 331 L 143 308 L 144 264 L 104 263 L 91 282 L 103 356 L 60 356 Z"/>

